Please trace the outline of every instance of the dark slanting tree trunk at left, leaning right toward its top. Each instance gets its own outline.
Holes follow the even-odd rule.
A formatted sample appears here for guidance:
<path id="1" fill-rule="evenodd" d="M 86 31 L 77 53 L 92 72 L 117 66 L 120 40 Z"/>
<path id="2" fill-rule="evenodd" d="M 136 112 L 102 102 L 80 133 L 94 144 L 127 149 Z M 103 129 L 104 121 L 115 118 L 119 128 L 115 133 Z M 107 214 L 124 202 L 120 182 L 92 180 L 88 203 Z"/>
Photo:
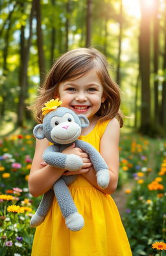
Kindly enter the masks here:
<path id="1" fill-rule="evenodd" d="M 32 1 L 32 8 L 30 10 L 29 38 L 27 40 L 27 46 L 25 46 L 24 49 L 21 49 L 21 51 L 23 51 L 23 59 L 21 60 L 22 66 L 21 66 L 21 74 L 20 74 L 20 91 L 19 91 L 19 102 L 18 102 L 18 126 L 23 126 L 23 113 L 25 111 L 24 101 L 25 101 L 25 95 L 27 91 L 27 68 L 28 68 L 28 62 L 29 62 L 31 38 L 32 38 L 32 19 L 34 17 L 34 5 L 35 5 L 35 0 Z M 21 33 L 23 33 L 23 31 L 21 31 Z M 23 38 L 25 38 L 25 36 L 22 34 L 21 40 L 23 40 Z M 21 47 L 23 47 L 23 42 Z"/>

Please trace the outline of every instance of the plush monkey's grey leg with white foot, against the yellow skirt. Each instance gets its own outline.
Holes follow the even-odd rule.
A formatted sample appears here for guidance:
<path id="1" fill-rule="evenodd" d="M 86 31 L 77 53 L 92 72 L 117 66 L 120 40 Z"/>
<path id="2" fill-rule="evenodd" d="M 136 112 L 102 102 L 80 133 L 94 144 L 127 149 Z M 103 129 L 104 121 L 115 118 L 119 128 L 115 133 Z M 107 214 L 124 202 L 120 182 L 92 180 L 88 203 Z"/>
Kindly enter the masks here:
<path id="1" fill-rule="evenodd" d="M 69 188 L 65 184 L 65 181 L 60 178 L 54 184 L 54 194 L 58 201 L 58 205 L 62 211 L 62 215 L 65 218 L 65 225 L 71 231 L 78 231 L 84 226 L 84 218 L 78 213 Z"/>

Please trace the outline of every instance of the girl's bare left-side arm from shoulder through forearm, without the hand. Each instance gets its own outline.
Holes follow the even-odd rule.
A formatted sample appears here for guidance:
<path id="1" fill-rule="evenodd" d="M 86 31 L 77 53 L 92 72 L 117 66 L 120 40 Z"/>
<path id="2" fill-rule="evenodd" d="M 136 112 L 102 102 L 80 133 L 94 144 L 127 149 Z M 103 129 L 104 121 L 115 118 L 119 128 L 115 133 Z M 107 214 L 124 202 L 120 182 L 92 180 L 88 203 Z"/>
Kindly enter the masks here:
<path id="1" fill-rule="evenodd" d="M 34 197 L 47 192 L 65 171 L 51 165 L 41 166 L 41 162 L 43 162 L 42 154 L 48 146 L 49 141 L 47 139 L 36 139 L 36 149 L 29 175 L 29 192 Z"/>

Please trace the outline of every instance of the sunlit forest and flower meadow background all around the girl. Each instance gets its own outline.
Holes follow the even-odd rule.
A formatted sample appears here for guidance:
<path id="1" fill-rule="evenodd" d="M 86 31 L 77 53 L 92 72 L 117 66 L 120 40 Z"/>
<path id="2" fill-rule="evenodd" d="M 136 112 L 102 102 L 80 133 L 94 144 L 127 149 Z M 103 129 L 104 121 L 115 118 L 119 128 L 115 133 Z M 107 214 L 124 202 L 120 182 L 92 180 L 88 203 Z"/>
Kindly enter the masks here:
<path id="1" fill-rule="evenodd" d="M 119 208 L 133 256 L 166 250 L 166 0 L 0 2 L 0 255 L 30 256 L 36 125 L 29 107 L 54 61 L 93 47 L 121 91 Z M 152 247 L 153 244 L 153 247 Z M 160 247 L 161 246 L 161 247 Z"/>

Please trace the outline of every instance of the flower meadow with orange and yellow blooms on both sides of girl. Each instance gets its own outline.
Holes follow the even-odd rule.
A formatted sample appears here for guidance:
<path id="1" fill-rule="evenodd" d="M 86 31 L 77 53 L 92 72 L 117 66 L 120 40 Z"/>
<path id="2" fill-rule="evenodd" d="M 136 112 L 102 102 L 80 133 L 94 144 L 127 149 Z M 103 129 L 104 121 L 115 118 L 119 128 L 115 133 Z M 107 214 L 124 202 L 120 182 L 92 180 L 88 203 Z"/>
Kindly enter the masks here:
<path id="1" fill-rule="evenodd" d="M 0 255 L 29 256 L 34 230 L 29 221 L 40 198 L 28 190 L 34 137 L 25 130 L 0 141 Z M 134 256 L 164 255 L 152 243 L 166 240 L 166 141 L 122 134 L 119 184 L 127 204 L 123 224 Z M 165 244 L 164 244 L 165 245 Z"/>

